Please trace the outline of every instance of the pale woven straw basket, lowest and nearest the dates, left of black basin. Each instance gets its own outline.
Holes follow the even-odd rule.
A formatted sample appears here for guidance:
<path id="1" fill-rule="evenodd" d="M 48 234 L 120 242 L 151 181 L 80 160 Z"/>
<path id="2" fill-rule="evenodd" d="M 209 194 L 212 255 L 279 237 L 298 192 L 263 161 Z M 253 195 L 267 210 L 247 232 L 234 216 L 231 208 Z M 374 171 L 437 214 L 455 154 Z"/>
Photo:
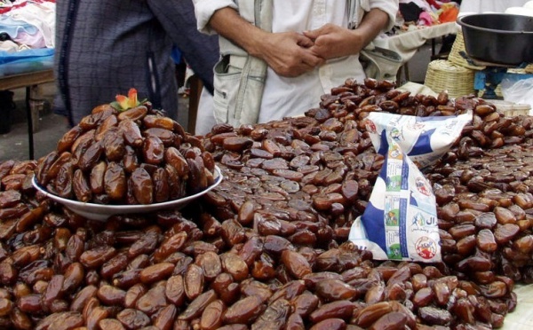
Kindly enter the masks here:
<path id="1" fill-rule="evenodd" d="M 424 84 L 436 93 L 448 90 L 451 98 L 469 95 L 473 90 L 475 72 L 452 64 L 449 60 L 436 59 L 429 62 Z"/>

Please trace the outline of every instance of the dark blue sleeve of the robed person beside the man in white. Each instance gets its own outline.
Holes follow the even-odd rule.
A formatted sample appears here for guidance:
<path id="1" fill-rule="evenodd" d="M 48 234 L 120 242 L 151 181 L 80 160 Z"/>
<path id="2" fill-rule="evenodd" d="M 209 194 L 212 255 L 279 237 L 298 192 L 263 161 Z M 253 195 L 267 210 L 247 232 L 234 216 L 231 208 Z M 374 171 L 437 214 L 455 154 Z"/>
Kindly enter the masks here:
<path id="1" fill-rule="evenodd" d="M 187 64 L 212 94 L 213 67 L 219 60 L 219 37 L 205 35 L 197 30 L 192 0 L 154 0 L 148 1 L 148 5 L 181 55 L 187 59 Z"/>

